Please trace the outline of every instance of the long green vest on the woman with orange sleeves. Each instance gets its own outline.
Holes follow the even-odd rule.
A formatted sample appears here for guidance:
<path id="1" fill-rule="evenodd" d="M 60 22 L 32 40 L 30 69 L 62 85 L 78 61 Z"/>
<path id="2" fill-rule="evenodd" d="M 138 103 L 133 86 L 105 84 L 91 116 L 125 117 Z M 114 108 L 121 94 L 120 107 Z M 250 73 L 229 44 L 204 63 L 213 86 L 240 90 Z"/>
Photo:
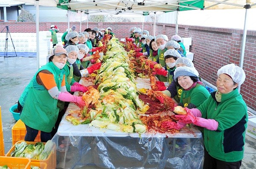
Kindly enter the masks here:
<path id="1" fill-rule="evenodd" d="M 64 71 L 57 68 L 53 62 L 48 62 L 35 73 L 30 81 L 31 87 L 26 94 L 20 120 L 33 129 L 51 132 L 58 118 L 59 109 L 56 107 L 58 100 L 53 99 L 48 90 L 36 82 L 36 75 L 41 70 L 49 70 L 54 75 L 58 90 L 61 89 Z"/>

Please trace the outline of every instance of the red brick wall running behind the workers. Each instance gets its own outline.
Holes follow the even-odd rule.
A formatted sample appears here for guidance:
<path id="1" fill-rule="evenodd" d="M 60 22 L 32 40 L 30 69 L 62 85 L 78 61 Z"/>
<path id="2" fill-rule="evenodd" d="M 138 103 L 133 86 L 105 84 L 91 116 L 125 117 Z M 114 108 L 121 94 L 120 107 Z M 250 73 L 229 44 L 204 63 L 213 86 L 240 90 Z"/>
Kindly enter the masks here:
<path id="1" fill-rule="evenodd" d="M 49 30 L 50 25 L 55 23 L 40 23 L 40 31 Z M 9 25 L 10 32 L 33 32 L 35 33 L 35 23 L 0 23 L 2 30 Z M 76 25 L 77 31 L 80 23 L 70 23 Z M 133 26 L 142 28 L 142 23 L 88 23 L 89 28 L 111 27 L 116 37 L 123 38 L 130 35 L 129 29 Z M 67 23 L 58 23 L 60 32 L 67 29 Z M 82 23 L 81 30 L 87 28 L 87 23 Z M 144 23 L 144 30 L 148 30 L 154 35 L 154 23 Z M 169 39 L 175 34 L 175 24 L 156 23 L 156 33 L 166 34 Z M 217 71 L 221 66 L 235 63 L 239 65 L 241 40 L 243 31 L 231 28 L 212 28 L 191 25 L 179 25 L 178 34 L 180 37 L 191 37 L 192 45 L 190 51 L 194 53 L 194 64 L 200 76 L 207 82 L 215 85 Z M 244 53 L 244 71 L 246 79 L 241 85 L 241 95 L 248 107 L 256 110 L 256 31 L 247 31 L 247 38 Z"/>

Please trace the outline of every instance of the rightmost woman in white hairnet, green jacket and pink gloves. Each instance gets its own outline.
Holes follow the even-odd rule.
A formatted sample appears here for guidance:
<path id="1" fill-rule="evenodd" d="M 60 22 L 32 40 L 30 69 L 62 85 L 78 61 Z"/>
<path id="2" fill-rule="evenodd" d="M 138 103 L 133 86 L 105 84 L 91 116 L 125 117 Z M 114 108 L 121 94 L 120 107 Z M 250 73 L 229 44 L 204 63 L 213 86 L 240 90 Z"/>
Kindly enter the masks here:
<path id="1" fill-rule="evenodd" d="M 245 80 L 242 68 L 234 64 L 217 72 L 217 91 L 187 115 L 175 115 L 180 122 L 204 127 L 204 169 L 239 169 L 244 154 L 247 106 L 237 89 Z"/>

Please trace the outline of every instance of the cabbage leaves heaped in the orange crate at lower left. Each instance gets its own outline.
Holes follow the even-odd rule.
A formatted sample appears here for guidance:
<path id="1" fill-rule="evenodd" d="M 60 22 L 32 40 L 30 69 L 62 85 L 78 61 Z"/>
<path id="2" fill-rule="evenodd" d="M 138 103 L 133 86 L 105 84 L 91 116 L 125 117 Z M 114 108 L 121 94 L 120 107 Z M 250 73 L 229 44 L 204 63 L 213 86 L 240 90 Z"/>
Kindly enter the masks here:
<path id="1" fill-rule="evenodd" d="M 54 147 L 54 143 L 49 140 L 44 145 L 43 142 L 37 142 L 36 144 L 27 144 L 22 141 L 15 144 L 15 149 L 12 152 L 12 157 L 24 157 L 33 160 L 46 160 Z"/>

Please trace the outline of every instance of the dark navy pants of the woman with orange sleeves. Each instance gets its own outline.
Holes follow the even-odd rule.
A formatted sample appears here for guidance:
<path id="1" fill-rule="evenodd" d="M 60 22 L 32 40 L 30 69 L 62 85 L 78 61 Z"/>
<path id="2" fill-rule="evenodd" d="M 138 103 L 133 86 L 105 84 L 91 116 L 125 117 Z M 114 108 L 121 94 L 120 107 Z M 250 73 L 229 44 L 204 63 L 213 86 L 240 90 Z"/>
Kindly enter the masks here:
<path id="1" fill-rule="evenodd" d="M 33 129 L 31 127 L 28 127 L 26 124 L 26 135 L 25 135 L 25 141 L 35 141 L 36 136 L 38 135 L 38 130 Z M 52 139 L 52 135 L 50 132 L 43 132 L 41 131 L 41 141 L 47 142 L 48 140 Z"/>

